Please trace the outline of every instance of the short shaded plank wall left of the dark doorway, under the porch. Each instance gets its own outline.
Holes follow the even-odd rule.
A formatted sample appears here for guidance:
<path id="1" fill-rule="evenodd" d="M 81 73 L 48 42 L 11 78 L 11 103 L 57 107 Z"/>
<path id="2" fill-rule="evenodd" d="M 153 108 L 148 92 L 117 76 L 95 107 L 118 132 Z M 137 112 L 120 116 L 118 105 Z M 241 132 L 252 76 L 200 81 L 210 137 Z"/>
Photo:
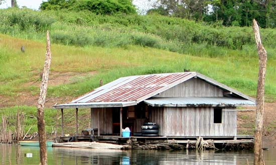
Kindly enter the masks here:
<path id="1" fill-rule="evenodd" d="M 99 112 L 99 127 L 98 127 Z M 92 127 L 98 128 L 100 134 L 112 134 L 112 108 L 93 108 Z"/>

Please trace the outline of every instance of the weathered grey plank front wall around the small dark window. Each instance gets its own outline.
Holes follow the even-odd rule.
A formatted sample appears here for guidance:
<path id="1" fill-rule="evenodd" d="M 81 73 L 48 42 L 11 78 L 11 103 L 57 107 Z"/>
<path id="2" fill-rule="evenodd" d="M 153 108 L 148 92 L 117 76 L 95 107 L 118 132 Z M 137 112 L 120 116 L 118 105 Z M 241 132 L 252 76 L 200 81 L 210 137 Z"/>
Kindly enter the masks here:
<path id="1" fill-rule="evenodd" d="M 235 136 L 237 132 L 236 111 L 222 111 L 222 123 L 214 123 L 213 107 L 153 107 L 150 119 L 160 125 L 161 136 Z"/>

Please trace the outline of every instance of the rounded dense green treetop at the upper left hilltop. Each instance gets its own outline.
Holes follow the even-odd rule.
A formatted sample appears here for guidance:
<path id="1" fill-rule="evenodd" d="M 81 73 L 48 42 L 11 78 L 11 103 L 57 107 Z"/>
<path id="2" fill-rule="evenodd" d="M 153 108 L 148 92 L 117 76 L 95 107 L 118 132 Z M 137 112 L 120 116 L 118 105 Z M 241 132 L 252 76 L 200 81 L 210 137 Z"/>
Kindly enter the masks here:
<path id="1" fill-rule="evenodd" d="M 48 2 L 43 2 L 40 9 L 69 9 L 75 11 L 88 10 L 101 15 L 136 13 L 136 9 L 130 0 L 49 0 Z"/>

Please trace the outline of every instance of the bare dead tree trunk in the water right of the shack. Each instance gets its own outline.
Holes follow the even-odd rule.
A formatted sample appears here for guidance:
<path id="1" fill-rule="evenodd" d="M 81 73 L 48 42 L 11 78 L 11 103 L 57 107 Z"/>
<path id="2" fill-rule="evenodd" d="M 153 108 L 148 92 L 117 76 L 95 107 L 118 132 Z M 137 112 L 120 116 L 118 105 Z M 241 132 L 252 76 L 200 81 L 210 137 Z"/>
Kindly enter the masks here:
<path id="1" fill-rule="evenodd" d="M 267 55 L 264 47 L 261 44 L 259 27 L 257 22 L 253 20 L 253 31 L 255 34 L 255 40 L 259 55 L 259 73 L 258 73 L 258 86 L 257 86 L 257 100 L 256 100 L 256 126 L 255 126 L 255 138 L 254 138 L 254 164 L 264 164 L 262 160 L 261 149 L 261 136 L 263 125 L 263 109 L 264 109 L 264 83 L 266 72 Z"/>

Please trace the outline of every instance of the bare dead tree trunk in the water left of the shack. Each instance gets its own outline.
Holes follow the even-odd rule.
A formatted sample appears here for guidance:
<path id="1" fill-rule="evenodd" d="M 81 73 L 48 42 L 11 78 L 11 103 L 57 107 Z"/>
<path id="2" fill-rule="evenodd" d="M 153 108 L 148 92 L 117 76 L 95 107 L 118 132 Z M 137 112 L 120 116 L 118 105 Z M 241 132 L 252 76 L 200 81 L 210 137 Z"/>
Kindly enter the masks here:
<path id="1" fill-rule="evenodd" d="M 39 144 L 40 144 L 40 164 L 47 164 L 47 150 L 46 150 L 46 137 L 45 137 L 45 121 L 44 121 L 44 103 L 45 97 L 47 94 L 48 86 L 48 77 L 51 64 L 51 50 L 50 50 L 50 38 L 49 31 L 47 31 L 47 48 L 45 55 L 45 63 L 43 67 L 43 76 L 40 86 L 40 95 L 38 99 L 38 111 L 37 111 L 37 120 L 38 120 L 38 135 L 39 135 Z"/>

